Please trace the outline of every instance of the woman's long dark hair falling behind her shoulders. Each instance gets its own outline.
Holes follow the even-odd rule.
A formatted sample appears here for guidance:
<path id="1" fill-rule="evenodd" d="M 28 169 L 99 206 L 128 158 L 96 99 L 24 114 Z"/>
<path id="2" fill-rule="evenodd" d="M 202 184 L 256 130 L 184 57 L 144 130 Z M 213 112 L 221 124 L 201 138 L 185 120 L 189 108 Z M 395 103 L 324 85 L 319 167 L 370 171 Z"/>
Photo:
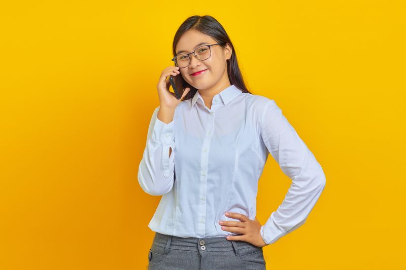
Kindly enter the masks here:
<path id="1" fill-rule="evenodd" d="M 228 43 L 232 48 L 232 54 L 230 59 L 227 59 L 227 73 L 228 79 L 230 80 L 230 84 L 234 85 L 238 89 L 242 90 L 245 93 L 252 94 L 246 87 L 243 79 L 243 75 L 241 74 L 240 67 L 238 65 L 237 56 L 235 54 L 234 46 L 232 45 L 230 38 L 228 37 L 227 32 L 225 31 L 224 27 L 212 16 L 205 15 L 205 16 L 191 16 L 187 18 L 181 26 L 179 26 L 178 30 L 175 33 L 174 42 L 173 42 L 173 55 L 176 56 L 176 45 L 179 42 L 182 34 L 189 29 L 194 29 L 199 31 L 203 34 L 209 35 L 213 37 L 217 43 L 220 43 L 219 46 L 225 48 L 226 44 Z M 197 89 L 188 84 L 186 81 L 184 83 L 184 87 L 189 87 L 190 91 L 186 94 L 186 96 L 182 100 L 190 99 L 195 94 Z"/>

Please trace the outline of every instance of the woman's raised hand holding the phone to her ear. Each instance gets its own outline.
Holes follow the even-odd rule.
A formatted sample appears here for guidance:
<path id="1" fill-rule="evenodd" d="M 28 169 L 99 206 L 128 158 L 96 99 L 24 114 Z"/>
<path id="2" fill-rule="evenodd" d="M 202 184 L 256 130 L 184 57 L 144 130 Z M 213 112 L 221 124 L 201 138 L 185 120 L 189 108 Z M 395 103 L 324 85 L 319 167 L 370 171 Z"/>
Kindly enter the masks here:
<path id="1" fill-rule="evenodd" d="M 176 76 L 179 74 L 180 71 L 178 66 L 168 66 L 164 70 L 162 70 L 158 84 L 156 85 L 159 96 L 159 104 L 161 108 L 165 107 L 175 110 L 176 106 L 178 106 L 182 98 L 184 98 L 186 94 L 190 91 L 190 88 L 186 87 L 180 99 L 176 98 L 175 93 L 169 91 L 171 82 L 169 80 L 166 80 L 166 78 L 168 78 L 171 75 Z"/>

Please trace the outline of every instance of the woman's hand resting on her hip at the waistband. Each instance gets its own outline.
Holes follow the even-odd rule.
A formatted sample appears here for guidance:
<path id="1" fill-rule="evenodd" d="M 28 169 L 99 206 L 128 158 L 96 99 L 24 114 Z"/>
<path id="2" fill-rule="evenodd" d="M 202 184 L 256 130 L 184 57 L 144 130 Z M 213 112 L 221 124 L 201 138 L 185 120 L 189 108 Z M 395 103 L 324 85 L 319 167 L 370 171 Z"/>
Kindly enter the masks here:
<path id="1" fill-rule="evenodd" d="M 219 224 L 222 225 L 222 229 L 227 232 L 232 232 L 235 234 L 241 234 L 239 236 L 227 236 L 227 240 L 233 241 L 246 241 L 257 247 L 267 246 L 261 237 L 261 223 L 255 217 L 254 220 L 249 219 L 246 215 L 240 213 L 226 213 L 227 217 L 239 219 L 240 221 L 223 221 L 220 220 Z"/>

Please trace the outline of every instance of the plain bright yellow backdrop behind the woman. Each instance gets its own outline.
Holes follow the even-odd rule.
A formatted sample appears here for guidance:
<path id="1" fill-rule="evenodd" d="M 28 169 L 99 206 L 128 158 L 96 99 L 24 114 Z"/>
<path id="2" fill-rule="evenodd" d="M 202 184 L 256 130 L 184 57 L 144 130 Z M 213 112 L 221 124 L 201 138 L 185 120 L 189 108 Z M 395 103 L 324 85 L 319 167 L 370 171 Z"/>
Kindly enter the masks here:
<path id="1" fill-rule="evenodd" d="M 10 4 L 12 3 L 12 4 Z M 137 180 L 156 84 L 192 15 L 326 174 L 270 269 L 404 269 L 404 1 L 9 1 L 0 8 L 0 269 L 144 269 L 160 197 Z M 290 179 L 269 156 L 263 224 Z"/>

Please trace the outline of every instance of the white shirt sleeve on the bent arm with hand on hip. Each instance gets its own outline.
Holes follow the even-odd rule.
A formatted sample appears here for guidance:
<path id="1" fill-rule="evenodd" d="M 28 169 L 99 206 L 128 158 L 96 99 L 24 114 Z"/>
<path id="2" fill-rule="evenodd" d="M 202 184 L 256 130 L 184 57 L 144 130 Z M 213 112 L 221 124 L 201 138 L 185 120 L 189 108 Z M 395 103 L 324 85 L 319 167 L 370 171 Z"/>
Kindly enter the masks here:
<path id="1" fill-rule="evenodd" d="M 274 100 L 266 103 L 261 117 L 262 141 L 284 174 L 292 180 L 282 204 L 260 229 L 264 242 L 272 244 L 306 222 L 324 189 L 326 178 L 313 153 Z"/>

